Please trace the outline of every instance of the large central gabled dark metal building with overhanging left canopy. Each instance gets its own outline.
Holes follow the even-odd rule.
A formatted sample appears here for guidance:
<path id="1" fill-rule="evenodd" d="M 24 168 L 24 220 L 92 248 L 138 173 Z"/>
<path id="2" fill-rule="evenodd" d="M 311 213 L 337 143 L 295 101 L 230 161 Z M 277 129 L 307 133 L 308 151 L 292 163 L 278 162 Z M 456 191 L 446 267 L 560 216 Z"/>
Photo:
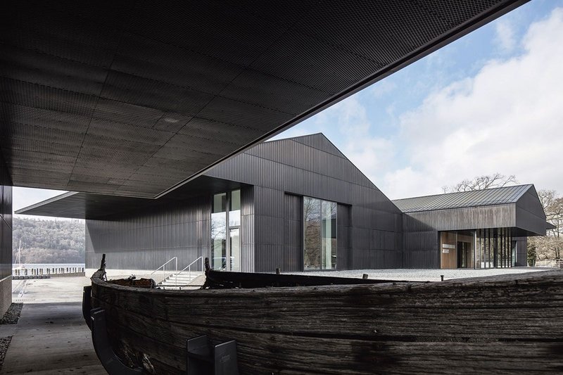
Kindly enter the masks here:
<path id="1" fill-rule="evenodd" d="M 102 253 L 118 269 L 402 265 L 402 213 L 322 134 L 255 146 L 156 201 L 67 193 L 18 213 L 86 218 L 89 268 Z"/>

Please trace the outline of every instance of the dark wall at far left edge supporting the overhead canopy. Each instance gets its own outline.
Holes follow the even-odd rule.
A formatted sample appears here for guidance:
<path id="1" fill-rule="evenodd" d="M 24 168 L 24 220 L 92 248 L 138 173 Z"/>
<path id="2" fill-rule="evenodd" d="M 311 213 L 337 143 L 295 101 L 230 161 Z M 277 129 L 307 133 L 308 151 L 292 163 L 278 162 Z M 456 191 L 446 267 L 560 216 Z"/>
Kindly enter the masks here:
<path id="1" fill-rule="evenodd" d="M 12 181 L 0 153 L 0 314 L 12 303 Z"/>

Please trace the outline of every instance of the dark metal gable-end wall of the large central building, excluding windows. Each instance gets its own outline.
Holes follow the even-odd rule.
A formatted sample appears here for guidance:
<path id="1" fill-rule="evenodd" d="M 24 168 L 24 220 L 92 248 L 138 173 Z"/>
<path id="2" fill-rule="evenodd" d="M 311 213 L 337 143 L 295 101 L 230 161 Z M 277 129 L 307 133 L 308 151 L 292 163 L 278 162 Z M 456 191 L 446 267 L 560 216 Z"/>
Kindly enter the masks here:
<path id="1" fill-rule="evenodd" d="M 403 266 L 400 210 L 322 134 L 260 144 L 206 175 L 254 186 L 256 272 L 303 268 L 303 196 L 339 203 L 338 269 Z"/>

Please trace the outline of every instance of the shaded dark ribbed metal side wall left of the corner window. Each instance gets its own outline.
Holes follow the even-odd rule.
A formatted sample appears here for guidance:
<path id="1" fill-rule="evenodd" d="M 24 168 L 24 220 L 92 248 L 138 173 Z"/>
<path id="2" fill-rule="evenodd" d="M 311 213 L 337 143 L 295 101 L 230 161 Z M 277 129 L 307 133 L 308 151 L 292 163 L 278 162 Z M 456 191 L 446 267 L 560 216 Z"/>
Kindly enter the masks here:
<path id="1" fill-rule="evenodd" d="M 172 257 L 185 267 L 210 249 L 210 199 L 168 203 L 151 210 L 86 221 L 86 267 L 156 269 Z"/>

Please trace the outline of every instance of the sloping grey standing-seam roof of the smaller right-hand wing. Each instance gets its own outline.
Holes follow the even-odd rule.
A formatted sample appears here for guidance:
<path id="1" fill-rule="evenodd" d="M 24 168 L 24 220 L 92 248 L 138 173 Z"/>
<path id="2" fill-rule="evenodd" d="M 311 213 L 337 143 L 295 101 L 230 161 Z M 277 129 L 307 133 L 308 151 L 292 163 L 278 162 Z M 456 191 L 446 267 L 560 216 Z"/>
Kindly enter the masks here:
<path id="1" fill-rule="evenodd" d="M 483 205 L 501 205 L 516 203 L 532 184 L 505 186 L 494 189 L 460 191 L 457 193 L 419 196 L 415 198 L 396 199 L 393 201 L 403 212 L 422 212 L 444 210 L 448 208 L 476 207 Z"/>

